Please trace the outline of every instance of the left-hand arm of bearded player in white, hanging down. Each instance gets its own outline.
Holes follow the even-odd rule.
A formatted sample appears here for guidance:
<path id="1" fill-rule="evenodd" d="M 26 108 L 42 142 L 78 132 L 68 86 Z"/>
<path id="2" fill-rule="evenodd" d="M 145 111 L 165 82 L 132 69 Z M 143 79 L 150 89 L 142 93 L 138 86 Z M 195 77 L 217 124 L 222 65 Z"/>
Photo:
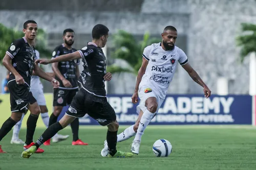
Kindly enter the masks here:
<path id="1" fill-rule="evenodd" d="M 144 52 L 142 54 L 142 57 L 143 57 L 142 58 L 142 64 L 141 64 L 141 67 L 140 67 L 140 69 L 138 71 L 138 76 L 137 76 L 137 80 L 136 80 L 135 90 L 134 90 L 134 93 L 133 93 L 133 96 L 132 96 L 132 102 L 134 104 L 136 104 L 138 102 L 139 85 L 140 85 L 142 76 L 145 74 L 146 66 L 148 64 L 148 61 L 150 60 L 149 59 L 150 48 L 151 48 L 151 46 L 145 47 Z"/>

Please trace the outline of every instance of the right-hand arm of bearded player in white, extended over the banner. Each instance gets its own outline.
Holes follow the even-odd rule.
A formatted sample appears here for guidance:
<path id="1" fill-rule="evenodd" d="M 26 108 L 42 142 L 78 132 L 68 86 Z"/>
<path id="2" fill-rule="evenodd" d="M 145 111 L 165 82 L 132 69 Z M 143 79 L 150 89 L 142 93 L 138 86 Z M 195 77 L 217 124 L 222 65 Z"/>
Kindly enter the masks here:
<path id="1" fill-rule="evenodd" d="M 209 98 L 211 91 L 207 87 L 207 85 L 203 82 L 203 80 L 200 78 L 200 76 L 197 74 L 197 71 L 191 67 L 191 65 L 188 63 L 188 59 L 186 54 L 180 49 L 180 58 L 179 58 L 180 65 L 187 71 L 188 75 L 193 79 L 196 83 L 198 83 L 200 86 L 204 89 L 204 96 L 206 98 Z"/>

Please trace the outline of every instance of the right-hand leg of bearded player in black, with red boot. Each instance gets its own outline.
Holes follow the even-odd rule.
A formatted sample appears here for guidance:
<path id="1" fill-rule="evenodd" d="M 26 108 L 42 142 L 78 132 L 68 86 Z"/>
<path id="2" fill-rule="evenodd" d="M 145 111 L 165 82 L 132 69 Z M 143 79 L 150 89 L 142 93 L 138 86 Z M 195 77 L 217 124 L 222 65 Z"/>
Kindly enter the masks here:
<path id="1" fill-rule="evenodd" d="M 68 94 L 68 101 L 67 104 L 70 105 L 74 96 L 78 92 L 78 89 L 75 90 L 69 90 Z M 88 143 L 83 142 L 81 139 L 78 137 L 78 131 L 79 131 L 79 118 L 74 119 L 74 121 L 70 124 L 72 134 L 73 134 L 73 141 L 72 145 L 88 145 Z"/>

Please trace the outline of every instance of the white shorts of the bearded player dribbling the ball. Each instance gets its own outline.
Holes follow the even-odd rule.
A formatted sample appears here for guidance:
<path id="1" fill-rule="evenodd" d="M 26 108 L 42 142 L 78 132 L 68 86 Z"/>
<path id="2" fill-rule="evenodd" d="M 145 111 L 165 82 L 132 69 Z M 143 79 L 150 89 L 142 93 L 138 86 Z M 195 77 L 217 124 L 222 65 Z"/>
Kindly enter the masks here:
<path id="1" fill-rule="evenodd" d="M 155 97 L 157 99 L 157 111 L 158 112 L 159 108 L 161 107 L 164 99 L 159 98 L 159 96 L 156 94 L 156 92 L 154 92 L 154 90 L 152 90 L 152 88 L 148 87 L 148 86 L 141 86 L 139 88 L 138 91 L 139 94 L 139 98 L 140 98 L 140 104 L 137 106 L 137 113 L 140 113 L 140 110 L 142 110 L 143 112 L 145 112 L 145 110 L 147 109 L 145 106 L 145 102 L 147 100 L 147 98 L 151 98 L 151 97 Z"/>

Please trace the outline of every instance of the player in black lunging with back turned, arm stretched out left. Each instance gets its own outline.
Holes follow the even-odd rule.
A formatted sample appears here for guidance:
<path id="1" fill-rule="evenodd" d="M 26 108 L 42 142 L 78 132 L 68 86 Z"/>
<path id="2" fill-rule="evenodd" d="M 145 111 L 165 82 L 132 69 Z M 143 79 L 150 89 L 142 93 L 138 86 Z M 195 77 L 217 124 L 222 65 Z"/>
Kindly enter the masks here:
<path id="1" fill-rule="evenodd" d="M 132 157 L 133 153 L 116 150 L 118 122 L 116 113 L 106 100 L 105 81 L 110 81 L 112 75 L 106 72 L 106 58 L 102 52 L 109 37 L 109 29 L 101 24 L 94 26 L 92 30 L 92 42 L 81 50 L 56 57 L 51 60 L 37 60 L 36 63 L 49 64 L 82 58 L 83 71 L 79 82 L 82 88 L 75 95 L 68 111 L 59 120 L 51 125 L 36 141 L 33 147 L 24 151 L 22 157 L 29 158 L 42 143 L 55 135 L 59 130 L 67 127 L 76 117 L 89 114 L 101 126 L 108 126 L 106 140 L 109 146 L 109 157 Z"/>

